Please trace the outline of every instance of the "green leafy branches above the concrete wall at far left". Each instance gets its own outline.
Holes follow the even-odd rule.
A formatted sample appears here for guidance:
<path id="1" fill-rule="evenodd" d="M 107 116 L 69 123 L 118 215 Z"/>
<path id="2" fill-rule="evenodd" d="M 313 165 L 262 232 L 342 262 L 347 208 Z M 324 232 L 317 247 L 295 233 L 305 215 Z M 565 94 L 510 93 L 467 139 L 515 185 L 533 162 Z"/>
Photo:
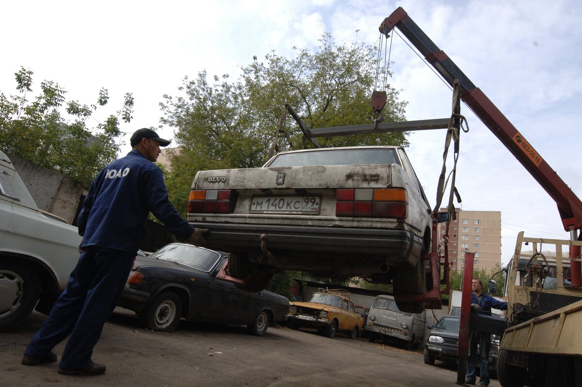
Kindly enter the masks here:
<path id="1" fill-rule="evenodd" d="M 66 102 L 64 88 L 54 81 L 42 81 L 41 93 L 29 100 L 33 72 L 20 68 L 15 73 L 18 95 L 6 97 L 0 91 L 0 147 L 5 152 L 62 173 L 88 187 L 101 169 L 116 158 L 120 147 L 119 120 L 132 119 L 133 96 L 125 94 L 123 107 L 94 128 L 89 118 L 108 102 L 101 89 L 94 105 Z M 65 119 L 61 110 L 72 118 Z"/>

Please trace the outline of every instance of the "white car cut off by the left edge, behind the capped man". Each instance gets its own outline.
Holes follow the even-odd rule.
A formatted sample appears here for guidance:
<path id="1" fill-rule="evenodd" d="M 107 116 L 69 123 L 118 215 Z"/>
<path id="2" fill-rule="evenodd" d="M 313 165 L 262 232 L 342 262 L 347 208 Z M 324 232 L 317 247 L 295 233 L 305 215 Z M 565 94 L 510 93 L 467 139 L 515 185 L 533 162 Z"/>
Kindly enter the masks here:
<path id="1" fill-rule="evenodd" d="M 80 243 L 76 226 L 38 208 L 0 151 L 0 332 L 20 326 L 33 309 L 50 313 L 79 261 Z"/>

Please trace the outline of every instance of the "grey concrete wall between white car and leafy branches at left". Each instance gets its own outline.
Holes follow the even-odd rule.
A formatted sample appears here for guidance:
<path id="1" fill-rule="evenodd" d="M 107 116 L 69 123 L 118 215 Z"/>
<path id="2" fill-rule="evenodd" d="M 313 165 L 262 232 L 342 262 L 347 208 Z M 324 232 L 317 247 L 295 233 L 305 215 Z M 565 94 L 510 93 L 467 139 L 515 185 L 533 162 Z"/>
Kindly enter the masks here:
<path id="1" fill-rule="evenodd" d="M 73 182 L 69 177 L 31 164 L 14 155 L 8 157 L 38 208 L 61 216 L 72 224 L 84 193 L 83 186 Z"/>

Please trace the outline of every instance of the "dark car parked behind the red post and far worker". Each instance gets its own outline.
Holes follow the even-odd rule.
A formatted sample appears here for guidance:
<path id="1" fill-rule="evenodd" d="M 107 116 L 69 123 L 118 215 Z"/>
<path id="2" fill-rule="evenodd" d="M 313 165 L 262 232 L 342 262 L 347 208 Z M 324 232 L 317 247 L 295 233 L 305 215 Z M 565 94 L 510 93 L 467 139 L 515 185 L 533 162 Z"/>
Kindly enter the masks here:
<path id="1" fill-rule="evenodd" d="M 460 307 L 451 310 L 459 315 L 449 315 L 441 318 L 434 328 L 431 328 L 431 333 L 425 340 L 424 345 L 424 364 L 434 364 L 435 360 L 442 360 L 447 363 L 456 363 L 458 359 L 457 347 L 459 345 L 459 322 L 460 322 Z M 495 377 L 495 360 L 499 350 L 499 336 L 491 335 L 491 349 L 489 349 L 489 373 Z M 480 367 L 479 345 L 477 344 L 477 361 L 475 366 Z"/>

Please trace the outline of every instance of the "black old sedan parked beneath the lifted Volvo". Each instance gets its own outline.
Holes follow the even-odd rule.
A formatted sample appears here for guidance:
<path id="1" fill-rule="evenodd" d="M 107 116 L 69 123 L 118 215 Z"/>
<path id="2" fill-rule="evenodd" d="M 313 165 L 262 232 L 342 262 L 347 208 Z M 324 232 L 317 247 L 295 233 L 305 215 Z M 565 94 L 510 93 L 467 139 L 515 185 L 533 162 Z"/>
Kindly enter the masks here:
<path id="1" fill-rule="evenodd" d="M 183 243 L 138 256 L 118 305 L 135 311 L 155 331 L 173 331 L 183 317 L 246 325 L 251 335 L 262 336 L 270 322 L 286 318 L 289 300 L 268 290 L 239 290 L 217 278 L 227 258 L 227 253 Z"/>

